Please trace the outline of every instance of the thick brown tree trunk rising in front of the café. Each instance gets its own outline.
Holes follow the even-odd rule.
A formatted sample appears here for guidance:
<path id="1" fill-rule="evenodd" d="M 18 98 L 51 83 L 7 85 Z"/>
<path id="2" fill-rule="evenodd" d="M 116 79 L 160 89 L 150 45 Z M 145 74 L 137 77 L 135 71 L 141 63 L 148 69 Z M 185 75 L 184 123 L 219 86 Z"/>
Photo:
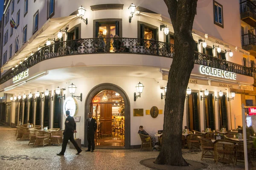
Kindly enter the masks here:
<path id="1" fill-rule="evenodd" d="M 169 71 L 164 109 L 163 140 L 156 164 L 188 166 L 182 157 L 182 123 L 189 77 L 196 49 L 192 37 L 197 0 L 164 0 L 174 28 L 174 57 Z"/>

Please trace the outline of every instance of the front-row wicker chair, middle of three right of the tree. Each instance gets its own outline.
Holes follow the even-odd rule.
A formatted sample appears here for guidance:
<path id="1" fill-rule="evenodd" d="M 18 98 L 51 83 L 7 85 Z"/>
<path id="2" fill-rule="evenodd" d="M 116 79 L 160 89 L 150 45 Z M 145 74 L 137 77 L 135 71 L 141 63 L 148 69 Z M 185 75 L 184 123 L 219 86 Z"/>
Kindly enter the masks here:
<path id="1" fill-rule="evenodd" d="M 216 164 L 218 164 L 218 161 L 223 163 L 233 163 L 234 164 L 234 155 L 235 155 L 235 142 L 227 141 L 227 140 L 216 140 L 214 142 L 214 159 L 216 161 Z"/>

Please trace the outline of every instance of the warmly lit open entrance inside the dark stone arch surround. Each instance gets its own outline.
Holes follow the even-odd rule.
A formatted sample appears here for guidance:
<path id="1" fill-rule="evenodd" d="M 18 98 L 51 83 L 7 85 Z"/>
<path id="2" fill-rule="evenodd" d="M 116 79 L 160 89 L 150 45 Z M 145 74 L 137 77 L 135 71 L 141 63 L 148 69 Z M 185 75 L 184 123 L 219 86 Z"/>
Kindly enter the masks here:
<path id="1" fill-rule="evenodd" d="M 125 102 L 122 96 L 113 90 L 103 90 L 96 94 L 90 107 L 98 128 L 95 134 L 95 146 L 125 146 Z"/>

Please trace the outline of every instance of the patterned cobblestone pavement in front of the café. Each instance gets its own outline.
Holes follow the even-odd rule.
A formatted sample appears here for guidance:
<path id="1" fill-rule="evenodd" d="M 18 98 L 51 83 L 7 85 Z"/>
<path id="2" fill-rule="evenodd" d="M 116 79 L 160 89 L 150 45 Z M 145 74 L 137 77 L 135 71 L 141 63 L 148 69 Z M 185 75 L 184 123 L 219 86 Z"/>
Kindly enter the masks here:
<path id="1" fill-rule="evenodd" d="M 149 170 L 139 162 L 143 159 L 156 158 L 158 151 L 132 150 L 104 150 L 96 149 L 94 153 L 83 152 L 76 155 L 75 149 L 69 145 L 65 156 L 57 156 L 61 146 L 33 147 L 28 141 L 16 140 L 15 130 L 0 126 L 0 167 L 1 170 Z M 183 149 L 185 159 L 201 161 L 201 152 L 190 152 Z M 203 159 L 209 164 L 210 170 L 242 170 L 244 164 L 216 165 L 212 159 Z M 252 165 L 251 165 L 252 166 Z"/>

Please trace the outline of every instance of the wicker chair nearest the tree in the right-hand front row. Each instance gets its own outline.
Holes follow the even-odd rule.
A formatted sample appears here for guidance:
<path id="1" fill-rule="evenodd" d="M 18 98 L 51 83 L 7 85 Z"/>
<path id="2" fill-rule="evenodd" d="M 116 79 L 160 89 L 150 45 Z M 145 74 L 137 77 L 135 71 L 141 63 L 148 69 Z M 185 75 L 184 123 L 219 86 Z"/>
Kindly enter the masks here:
<path id="1" fill-rule="evenodd" d="M 212 143 L 212 141 L 209 140 L 209 139 L 205 139 L 201 136 L 198 136 L 198 138 L 200 139 L 201 146 L 202 146 L 201 160 L 203 158 L 212 158 L 212 159 L 214 159 L 214 144 Z"/>

